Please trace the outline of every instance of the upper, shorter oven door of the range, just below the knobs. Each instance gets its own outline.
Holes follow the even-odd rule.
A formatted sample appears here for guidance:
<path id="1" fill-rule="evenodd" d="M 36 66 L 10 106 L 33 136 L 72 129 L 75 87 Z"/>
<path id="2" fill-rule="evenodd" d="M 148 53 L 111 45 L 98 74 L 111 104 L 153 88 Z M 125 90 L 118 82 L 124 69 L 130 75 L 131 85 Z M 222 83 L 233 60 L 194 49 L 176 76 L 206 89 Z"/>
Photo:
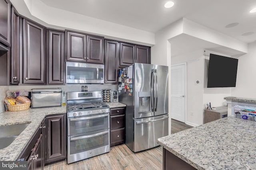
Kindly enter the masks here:
<path id="1" fill-rule="evenodd" d="M 68 136 L 109 128 L 109 113 L 68 118 Z"/>

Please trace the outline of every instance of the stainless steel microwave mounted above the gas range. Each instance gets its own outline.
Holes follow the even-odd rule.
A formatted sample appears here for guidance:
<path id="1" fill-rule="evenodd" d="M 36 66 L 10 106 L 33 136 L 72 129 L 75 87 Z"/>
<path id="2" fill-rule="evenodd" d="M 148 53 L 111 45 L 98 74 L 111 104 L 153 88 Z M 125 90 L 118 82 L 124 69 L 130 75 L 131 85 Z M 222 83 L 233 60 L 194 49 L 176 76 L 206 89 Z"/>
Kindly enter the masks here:
<path id="1" fill-rule="evenodd" d="M 66 62 L 66 83 L 104 83 L 104 65 Z"/>

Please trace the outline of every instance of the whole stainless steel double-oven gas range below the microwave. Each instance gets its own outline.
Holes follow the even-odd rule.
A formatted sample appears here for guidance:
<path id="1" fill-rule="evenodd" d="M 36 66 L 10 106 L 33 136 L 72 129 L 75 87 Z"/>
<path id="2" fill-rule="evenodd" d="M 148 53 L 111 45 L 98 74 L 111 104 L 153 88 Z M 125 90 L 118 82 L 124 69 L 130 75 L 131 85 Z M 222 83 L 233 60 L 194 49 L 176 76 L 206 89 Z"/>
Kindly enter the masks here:
<path id="1" fill-rule="evenodd" d="M 110 109 L 101 101 L 101 91 L 67 93 L 68 164 L 110 151 Z"/>

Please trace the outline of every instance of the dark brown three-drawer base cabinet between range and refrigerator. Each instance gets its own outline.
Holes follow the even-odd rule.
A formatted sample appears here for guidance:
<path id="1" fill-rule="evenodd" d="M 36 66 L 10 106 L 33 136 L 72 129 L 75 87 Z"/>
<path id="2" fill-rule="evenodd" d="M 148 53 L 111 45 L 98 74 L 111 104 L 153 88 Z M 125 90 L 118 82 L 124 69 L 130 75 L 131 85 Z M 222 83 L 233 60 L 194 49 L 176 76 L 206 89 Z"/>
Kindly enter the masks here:
<path id="1" fill-rule="evenodd" d="M 121 145 L 125 140 L 125 107 L 110 109 L 110 147 Z"/>

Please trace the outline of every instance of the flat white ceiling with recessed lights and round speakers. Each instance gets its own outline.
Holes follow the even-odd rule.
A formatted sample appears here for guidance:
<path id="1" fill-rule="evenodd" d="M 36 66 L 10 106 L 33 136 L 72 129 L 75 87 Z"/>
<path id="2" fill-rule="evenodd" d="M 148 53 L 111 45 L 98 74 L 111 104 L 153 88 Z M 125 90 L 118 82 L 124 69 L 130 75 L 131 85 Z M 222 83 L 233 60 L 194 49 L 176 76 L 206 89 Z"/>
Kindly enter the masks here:
<path id="1" fill-rule="evenodd" d="M 256 0 L 41 0 L 48 6 L 155 33 L 184 17 L 245 43 L 256 41 Z M 225 26 L 238 22 L 235 27 Z"/>

